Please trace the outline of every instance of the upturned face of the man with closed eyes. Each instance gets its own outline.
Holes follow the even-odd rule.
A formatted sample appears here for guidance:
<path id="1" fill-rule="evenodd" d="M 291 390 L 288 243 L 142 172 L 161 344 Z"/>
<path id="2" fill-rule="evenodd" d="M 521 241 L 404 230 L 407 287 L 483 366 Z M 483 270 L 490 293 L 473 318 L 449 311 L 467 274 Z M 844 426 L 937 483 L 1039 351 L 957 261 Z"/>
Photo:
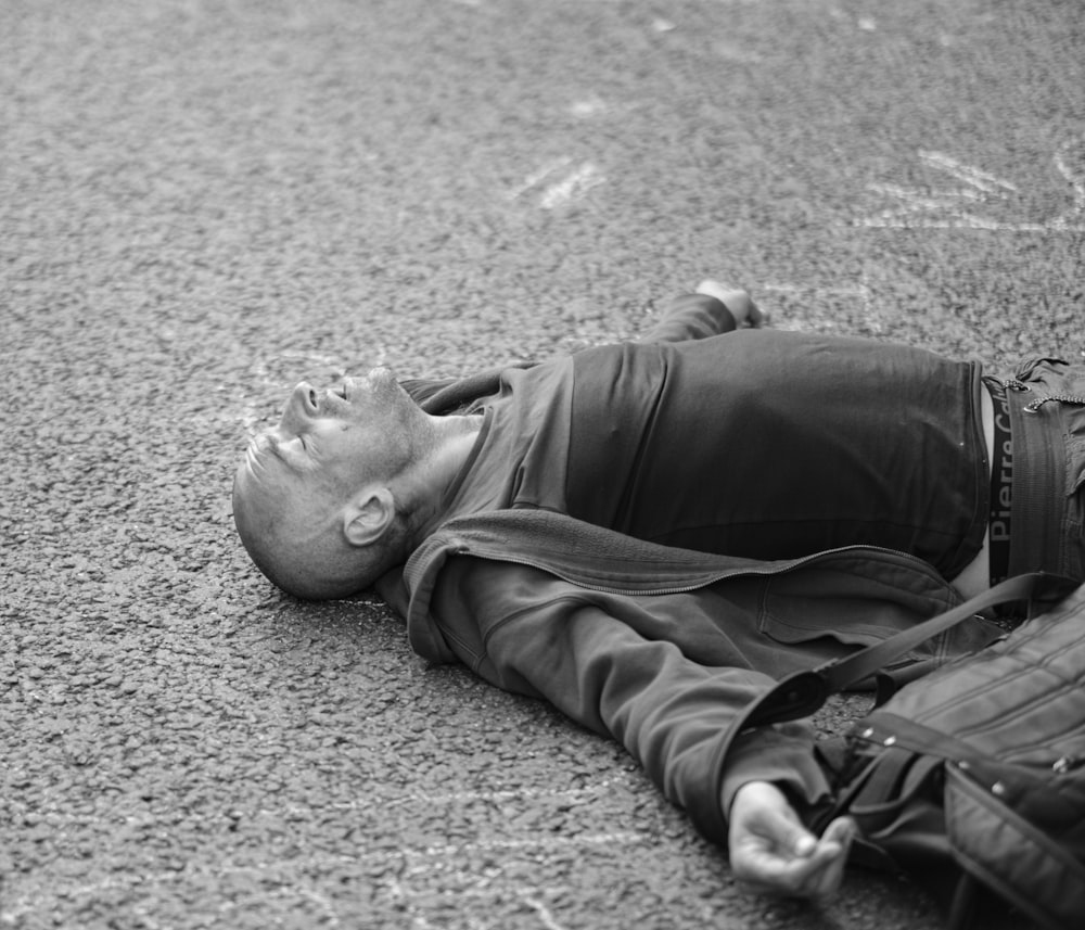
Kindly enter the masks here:
<path id="1" fill-rule="evenodd" d="M 311 489 L 347 496 L 409 464 L 425 419 L 392 373 L 378 368 L 322 391 L 302 382 L 261 444 Z"/>

